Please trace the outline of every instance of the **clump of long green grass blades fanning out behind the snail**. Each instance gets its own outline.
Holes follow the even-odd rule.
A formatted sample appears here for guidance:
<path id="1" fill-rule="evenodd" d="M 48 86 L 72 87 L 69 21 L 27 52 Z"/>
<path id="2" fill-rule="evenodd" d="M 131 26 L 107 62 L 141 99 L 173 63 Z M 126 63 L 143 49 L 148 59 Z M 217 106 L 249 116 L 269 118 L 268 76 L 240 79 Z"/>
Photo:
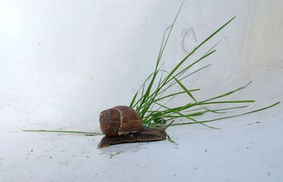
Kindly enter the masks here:
<path id="1" fill-rule="evenodd" d="M 180 8 L 182 5 L 180 6 Z M 238 92 L 239 90 L 243 90 L 244 88 L 248 87 L 250 83 L 243 85 L 242 87 L 238 87 L 235 90 L 232 90 L 230 92 L 226 92 L 222 95 L 218 95 L 216 97 L 212 97 L 210 99 L 206 100 L 198 100 L 193 96 L 193 92 L 200 91 L 200 89 L 189 89 L 185 85 L 183 85 L 182 80 L 185 78 L 188 78 L 190 75 L 197 73 L 198 71 L 201 71 L 204 68 L 207 68 L 210 65 L 204 66 L 197 71 L 194 71 L 192 73 L 188 73 L 190 71 L 190 68 L 194 66 L 195 64 L 199 63 L 200 61 L 207 59 L 210 55 L 214 54 L 216 51 L 214 48 L 216 45 L 214 45 L 209 51 L 207 51 L 204 55 L 200 56 L 199 59 L 190 62 L 187 64 L 187 60 L 194 54 L 200 47 L 202 47 L 205 43 L 207 43 L 214 35 L 216 35 L 220 30 L 222 30 L 226 25 L 231 23 L 231 21 L 236 18 L 233 17 L 231 20 L 229 20 L 227 23 L 222 25 L 220 28 L 218 28 L 215 32 L 212 33 L 212 35 L 209 35 L 207 39 L 205 39 L 203 42 L 201 42 L 195 49 L 192 49 L 192 51 L 185 56 L 174 68 L 172 68 L 171 71 L 165 71 L 162 69 L 163 64 L 161 64 L 161 58 L 163 55 L 163 51 L 166 48 L 166 44 L 168 42 L 168 39 L 171 35 L 171 31 L 173 29 L 173 26 L 175 24 L 175 21 L 178 17 L 178 14 L 180 13 L 180 8 L 177 13 L 177 16 L 175 17 L 175 20 L 173 21 L 173 24 L 168 27 L 163 34 L 163 39 L 161 43 L 161 48 L 159 50 L 158 59 L 156 61 L 156 66 L 154 69 L 154 72 L 149 75 L 149 77 L 144 81 L 144 83 L 141 85 L 139 90 L 136 92 L 134 97 L 132 98 L 132 102 L 129 104 L 129 107 L 132 107 L 135 109 L 141 116 L 141 120 L 144 123 L 144 126 L 148 127 L 156 127 L 161 126 L 163 124 L 166 124 L 168 121 L 173 121 L 175 119 L 185 118 L 188 119 L 189 122 L 183 122 L 183 123 L 174 123 L 172 126 L 177 125 L 184 125 L 184 124 L 192 124 L 192 123 L 200 123 L 204 126 L 207 126 L 204 123 L 210 122 L 210 121 L 216 121 L 219 119 L 228 119 L 235 116 L 241 116 L 244 114 L 250 114 L 256 111 L 262 111 L 263 109 L 268 109 L 270 107 L 275 106 L 276 104 L 279 104 L 279 102 L 272 104 L 269 107 L 264 107 L 262 109 L 254 110 L 254 111 L 248 111 L 246 113 L 242 114 L 236 114 L 232 116 L 221 116 L 216 119 L 210 119 L 206 121 L 197 121 L 196 119 L 193 119 L 193 116 L 200 116 L 202 114 L 205 114 L 207 112 L 212 112 L 214 114 L 224 114 L 226 110 L 232 110 L 232 109 L 239 109 L 243 107 L 248 107 L 248 105 L 242 105 L 239 107 L 227 107 L 223 109 L 208 109 L 207 105 L 215 105 L 215 104 L 241 104 L 241 103 L 250 103 L 255 102 L 255 100 L 252 99 L 244 99 L 244 100 L 226 100 L 226 101 L 217 101 L 217 99 L 226 97 L 228 95 L 231 95 L 235 92 Z M 168 33 L 167 33 L 168 32 Z M 183 68 L 185 65 L 185 68 Z M 183 66 L 183 67 L 181 67 Z M 171 87 L 174 85 L 178 85 L 180 87 L 180 92 L 174 92 L 169 95 L 166 95 L 166 91 L 168 91 Z M 180 107 L 168 107 L 168 103 L 173 100 L 178 95 L 187 95 L 192 100 L 191 103 L 185 104 Z M 189 112 L 189 114 L 187 114 Z M 207 126 L 209 128 L 214 128 L 211 126 Z"/>

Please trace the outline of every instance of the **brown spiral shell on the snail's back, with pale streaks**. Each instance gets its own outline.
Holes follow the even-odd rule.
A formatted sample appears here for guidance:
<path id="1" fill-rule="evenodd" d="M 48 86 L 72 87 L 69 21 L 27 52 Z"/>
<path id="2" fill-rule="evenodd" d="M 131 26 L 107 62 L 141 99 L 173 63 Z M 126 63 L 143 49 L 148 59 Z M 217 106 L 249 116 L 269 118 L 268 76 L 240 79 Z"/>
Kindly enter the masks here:
<path id="1" fill-rule="evenodd" d="M 108 137 L 137 133 L 144 129 L 139 114 L 127 106 L 102 111 L 99 122 L 101 131 Z"/>

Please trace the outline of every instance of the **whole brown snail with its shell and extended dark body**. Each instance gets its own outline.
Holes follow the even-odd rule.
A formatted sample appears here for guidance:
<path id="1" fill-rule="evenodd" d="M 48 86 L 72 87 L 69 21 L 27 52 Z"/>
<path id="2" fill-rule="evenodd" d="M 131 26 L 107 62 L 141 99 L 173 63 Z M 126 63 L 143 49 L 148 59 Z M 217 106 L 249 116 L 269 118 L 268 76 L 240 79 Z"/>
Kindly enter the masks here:
<path id="1" fill-rule="evenodd" d="M 127 106 L 117 106 L 102 111 L 99 122 L 105 137 L 99 142 L 98 148 L 125 142 L 166 140 L 166 129 L 173 123 L 158 128 L 144 128 L 137 111 Z"/>

